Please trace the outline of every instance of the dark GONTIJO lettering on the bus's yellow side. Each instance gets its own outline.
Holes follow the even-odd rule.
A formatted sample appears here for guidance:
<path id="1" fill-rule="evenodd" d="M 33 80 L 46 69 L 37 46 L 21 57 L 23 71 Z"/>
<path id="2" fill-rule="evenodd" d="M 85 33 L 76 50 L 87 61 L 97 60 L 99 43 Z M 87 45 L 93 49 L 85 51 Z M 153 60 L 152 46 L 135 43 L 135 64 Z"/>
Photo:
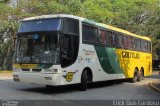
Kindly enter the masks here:
<path id="1" fill-rule="evenodd" d="M 134 53 L 134 52 L 122 52 L 122 58 L 134 58 L 134 59 L 139 59 L 140 54 L 139 53 Z"/>

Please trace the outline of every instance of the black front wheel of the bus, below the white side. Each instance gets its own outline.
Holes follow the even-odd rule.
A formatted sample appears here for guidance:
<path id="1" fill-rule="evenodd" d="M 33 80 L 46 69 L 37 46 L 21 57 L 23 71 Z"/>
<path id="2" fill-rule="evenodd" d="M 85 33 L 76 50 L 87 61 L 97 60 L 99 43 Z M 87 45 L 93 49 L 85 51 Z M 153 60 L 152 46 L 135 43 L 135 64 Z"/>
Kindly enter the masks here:
<path id="1" fill-rule="evenodd" d="M 80 90 L 81 91 L 86 91 L 87 90 L 87 70 L 84 70 L 82 72 Z"/>

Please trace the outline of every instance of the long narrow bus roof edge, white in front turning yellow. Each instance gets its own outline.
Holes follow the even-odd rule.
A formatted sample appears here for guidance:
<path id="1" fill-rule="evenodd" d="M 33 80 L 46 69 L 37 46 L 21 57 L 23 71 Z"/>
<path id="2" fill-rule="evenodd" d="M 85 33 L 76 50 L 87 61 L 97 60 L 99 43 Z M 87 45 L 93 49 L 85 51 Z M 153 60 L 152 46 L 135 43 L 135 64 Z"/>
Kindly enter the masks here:
<path id="1" fill-rule="evenodd" d="M 96 26 L 99 26 L 99 27 L 107 28 L 107 29 L 112 30 L 112 31 L 120 32 L 120 33 L 123 33 L 123 34 L 126 34 L 126 35 L 130 35 L 130 36 L 133 36 L 133 37 L 137 37 L 137 38 L 141 38 L 141 39 L 144 39 L 144 40 L 151 41 L 151 39 L 149 37 L 140 36 L 140 35 L 131 33 L 127 30 L 123 30 L 123 29 L 120 29 L 120 28 L 117 28 L 117 27 L 113 27 L 111 25 L 107 25 L 107 24 L 103 24 L 103 23 L 97 23 L 95 21 L 91 21 L 91 20 L 88 20 L 88 19 L 83 18 L 83 17 L 68 15 L 68 14 L 41 15 L 41 16 L 25 18 L 22 21 L 47 19 L 47 18 L 58 18 L 58 17 L 68 17 L 68 18 L 78 19 L 78 20 L 81 20 L 83 22 L 90 23 L 90 24 L 93 24 L 93 25 L 96 25 Z"/>

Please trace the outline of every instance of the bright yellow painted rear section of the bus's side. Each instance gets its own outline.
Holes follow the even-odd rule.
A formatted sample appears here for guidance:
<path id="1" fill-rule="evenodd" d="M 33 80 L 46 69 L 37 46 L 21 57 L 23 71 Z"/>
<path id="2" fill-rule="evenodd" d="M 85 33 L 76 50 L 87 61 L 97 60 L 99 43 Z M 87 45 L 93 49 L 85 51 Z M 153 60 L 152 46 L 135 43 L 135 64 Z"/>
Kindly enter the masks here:
<path id="1" fill-rule="evenodd" d="M 132 53 L 128 58 L 122 54 L 123 52 Z M 138 71 L 141 68 L 144 69 L 144 76 L 152 74 L 152 53 L 145 53 L 145 52 L 137 52 L 131 50 L 122 50 L 117 49 L 116 54 L 118 55 L 118 60 L 122 70 L 124 71 L 124 75 L 126 78 L 132 78 L 134 75 L 134 70 L 137 67 Z M 139 55 L 139 58 L 136 56 Z"/>

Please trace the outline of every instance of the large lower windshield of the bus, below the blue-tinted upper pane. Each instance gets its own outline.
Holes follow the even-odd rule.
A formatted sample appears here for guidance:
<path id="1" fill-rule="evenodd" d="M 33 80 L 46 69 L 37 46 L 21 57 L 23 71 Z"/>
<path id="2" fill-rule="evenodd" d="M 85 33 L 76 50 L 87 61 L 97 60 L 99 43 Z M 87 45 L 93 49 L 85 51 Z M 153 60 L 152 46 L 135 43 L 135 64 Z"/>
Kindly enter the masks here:
<path id="1" fill-rule="evenodd" d="M 15 62 L 57 64 L 59 62 L 59 35 L 53 32 L 19 34 Z"/>

